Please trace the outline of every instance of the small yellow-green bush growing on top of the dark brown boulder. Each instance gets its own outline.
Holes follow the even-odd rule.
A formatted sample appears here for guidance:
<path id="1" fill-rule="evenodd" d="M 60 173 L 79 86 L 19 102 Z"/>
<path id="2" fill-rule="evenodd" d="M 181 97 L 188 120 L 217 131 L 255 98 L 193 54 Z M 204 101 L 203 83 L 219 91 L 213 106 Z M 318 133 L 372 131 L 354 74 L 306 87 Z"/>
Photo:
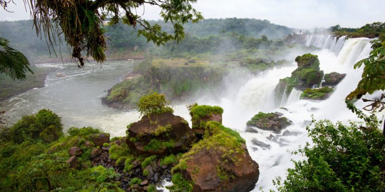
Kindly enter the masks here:
<path id="1" fill-rule="evenodd" d="M 152 92 L 140 98 L 138 102 L 141 115 L 153 115 L 161 113 L 174 113 L 170 106 L 166 106 L 168 101 L 163 94 Z"/>

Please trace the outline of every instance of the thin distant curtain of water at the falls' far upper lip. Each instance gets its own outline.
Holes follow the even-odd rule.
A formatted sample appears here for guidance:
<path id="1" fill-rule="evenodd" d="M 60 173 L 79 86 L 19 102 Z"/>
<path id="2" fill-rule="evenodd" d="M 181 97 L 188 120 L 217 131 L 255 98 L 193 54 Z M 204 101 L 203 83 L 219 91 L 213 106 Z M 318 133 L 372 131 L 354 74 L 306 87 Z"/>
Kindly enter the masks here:
<path id="1" fill-rule="evenodd" d="M 339 38 L 332 37 L 332 35 L 306 35 L 305 46 L 315 46 L 321 49 L 329 49 L 334 54 L 338 55 L 341 50 L 346 36 L 341 36 Z"/>

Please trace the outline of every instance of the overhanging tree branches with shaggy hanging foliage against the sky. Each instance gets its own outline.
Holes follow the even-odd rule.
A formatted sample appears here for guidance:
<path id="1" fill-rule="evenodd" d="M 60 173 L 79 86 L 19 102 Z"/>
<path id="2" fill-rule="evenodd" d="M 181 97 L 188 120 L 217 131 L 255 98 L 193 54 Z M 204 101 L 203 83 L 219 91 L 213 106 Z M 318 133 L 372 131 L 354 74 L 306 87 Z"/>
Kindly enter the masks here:
<path id="1" fill-rule="evenodd" d="M 79 67 L 84 65 L 86 57 L 91 56 L 102 63 L 106 60 L 106 31 L 103 21 L 110 18 L 109 25 L 114 25 L 122 18 L 124 24 L 137 29 L 138 35 L 147 38 L 156 45 L 163 45 L 168 40 L 181 40 L 184 37 L 183 24 L 196 23 L 203 19 L 200 12 L 191 4 L 197 0 L 84 0 L 84 1 L 48 1 L 30 0 L 31 16 L 36 33 L 46 38 L 53 48 L 60 34 L 72 48 L 72 57 Z M 158 24 L 150 24 L 141 17 L 141 7 L 157 6 L 164 22 L 174 27 L 174 33 L 167 33 Z M 83 54 L 86 54 L 86 57 Z"/>

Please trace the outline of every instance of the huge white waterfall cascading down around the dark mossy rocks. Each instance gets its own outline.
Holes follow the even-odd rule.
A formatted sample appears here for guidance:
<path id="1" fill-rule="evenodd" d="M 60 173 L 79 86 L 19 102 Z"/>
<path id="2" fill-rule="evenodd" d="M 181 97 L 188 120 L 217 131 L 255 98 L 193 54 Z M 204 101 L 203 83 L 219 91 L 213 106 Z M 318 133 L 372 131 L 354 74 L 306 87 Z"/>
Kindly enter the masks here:
<path id="1" fill-rule="evenodd" d="M 349 119 L 357 120 L 355 115 L 345 108 L 344 98 L 355 89 L 362 69 L 353 69 L 353 65 L 359 59 L 367 57 L 371 51 L 370 39 L 368 38 L 349 38 L 340 37 L 338 40 L 331 36 L 309 36 L 307 44 L 317 45 L 323 49 L 313 52 L 318 55 L 320 68 L 325 73 L 336 71 L 346 73 L 347 76 L 335 88 L 330 98 L 324 101 L 300 100 L 300 91 L 293 89 L 284 101 L 284 107 L 273 104 L 273 92 L 275 84 L 279 78 L 290 76 L 296 68 L 286 67 L 266 71 L 263 75 L 253 78 L 239 89 L 237 97 L 223 98 L 221 102 L 199 101 L 200 103 L 218 104 L 224 108 L 223 124 L 233 129 L 237 129 L 246 144 L 253 159 L 259 163 L 260 178 L 256 189 L 263 187 L 266 191 L 274 188 L 272 180 L 277 176 L 285 177 L 285 170 L 293 167 L 291 159 L 301 159 L 294 156 L 291 152 L 296 151 L 298 146 L 303 146 L 310 142 L 307 137 L 305 126 L 312 119 L 328 118 L 332 121 L 341 120 L 347 122 Z M 363 103 L 357 102 L 359 106 Z M 286 130 L 299 133 L 297 136 L 281 136 L 269 131 L 258 129 L 258 133 L 244 132 L 245 123 L 259 111 L 280 112 L 285 117 L 292 120 L 291 126 Z M 278 142 L 273 142 L 267 137 L 276 136 Z M 252 140 L 257 139 L 271 145 L 271 148 L 261 148 L 253 144 Z"/>

